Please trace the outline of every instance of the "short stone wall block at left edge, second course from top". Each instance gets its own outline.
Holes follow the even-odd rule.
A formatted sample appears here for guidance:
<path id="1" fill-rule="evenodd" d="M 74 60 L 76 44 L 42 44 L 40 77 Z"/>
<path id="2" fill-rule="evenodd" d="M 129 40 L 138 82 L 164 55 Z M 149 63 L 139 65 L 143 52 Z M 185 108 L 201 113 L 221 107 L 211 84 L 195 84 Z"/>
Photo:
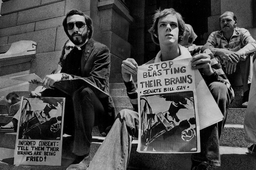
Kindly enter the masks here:
<path id="1" fill-rule="evenodd" d="M 15 26 L 18 20 L 18 12 L 0 16 L 0 28 Z"/>

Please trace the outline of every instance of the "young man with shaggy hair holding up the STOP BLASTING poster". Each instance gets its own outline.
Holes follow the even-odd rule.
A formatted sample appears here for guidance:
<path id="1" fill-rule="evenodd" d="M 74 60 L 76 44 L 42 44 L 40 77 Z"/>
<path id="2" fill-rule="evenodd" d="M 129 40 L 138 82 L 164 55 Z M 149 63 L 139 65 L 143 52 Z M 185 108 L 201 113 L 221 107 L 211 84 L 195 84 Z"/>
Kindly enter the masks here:
<path id="1" fill-rule="evenodd" d="M 191 59 L 191 66 L 193 69 L 200 69 L 200 73 L 204 75 L 204 80 L 224 116 L 223 121 L 200 130 L 201 152 L 192 154 L 192 170 L 209 169 L 209 165 L 220 166 L 219 137 L 227 117 L 230 98 L 233 97 L 233 89 L 223 78 L 225 74 L 217 73 L 221 70 L 220 65 L 212 54 L 198 54 L 198 51 L 188 51 L 187 48 L 178 44 L 181 42 L 184 27 L 181 14 L 172 8 L 158 10 L 155 13 L 153 26 L 149 32 L 154 43 L 160 45 L 161 51 L 153 62 L 184 59 L 192 57 L 190 54 L 196 54 Z M 204 52 L 207 51 L 209 50 Z M 219 69 L 212 69 L 211 61 L 214 60 L 214 67 L 218 66 Z M 137 75 L 138 64 L 135 59 L 128 58 L 123 61 L 121 67 L 127 95 L 134 111 L 124 109 L 118 113 L 110 132 L 97 150 L 88 170 L 126 169 L 132 140 L 134 137 L 138 137 L 138 96 L 131 76 Z"/>

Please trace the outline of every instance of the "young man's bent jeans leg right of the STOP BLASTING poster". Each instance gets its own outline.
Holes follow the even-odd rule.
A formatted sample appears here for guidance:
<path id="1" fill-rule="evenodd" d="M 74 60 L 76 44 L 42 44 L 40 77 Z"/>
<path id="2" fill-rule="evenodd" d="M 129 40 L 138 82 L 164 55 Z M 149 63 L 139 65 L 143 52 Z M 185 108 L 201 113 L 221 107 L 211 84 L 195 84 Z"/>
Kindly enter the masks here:
<path id="1" fill-rule="evenodd" d="M 200 130 L 201 152 L 192 154 L 192 160 L 220 166 L 219 137 L 227 119 L 230 97 L 227 86 L 222 82 L 212 82 L 208 88 L 224 118 L 221 122 Z"/>

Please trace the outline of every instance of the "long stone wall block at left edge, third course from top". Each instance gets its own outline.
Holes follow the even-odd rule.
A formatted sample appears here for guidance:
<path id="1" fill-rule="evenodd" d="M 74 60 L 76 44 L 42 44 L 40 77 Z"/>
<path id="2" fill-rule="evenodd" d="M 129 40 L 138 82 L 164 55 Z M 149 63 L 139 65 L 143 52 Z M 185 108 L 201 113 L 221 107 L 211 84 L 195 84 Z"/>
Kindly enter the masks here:
<path id="1" fill-rule="evenodd" d="M 35 23 L 23 24 L 14 27 L 2 28 L 0 29 L 0 37 L 29 33 L 33 32 L 35 29 Z"/>

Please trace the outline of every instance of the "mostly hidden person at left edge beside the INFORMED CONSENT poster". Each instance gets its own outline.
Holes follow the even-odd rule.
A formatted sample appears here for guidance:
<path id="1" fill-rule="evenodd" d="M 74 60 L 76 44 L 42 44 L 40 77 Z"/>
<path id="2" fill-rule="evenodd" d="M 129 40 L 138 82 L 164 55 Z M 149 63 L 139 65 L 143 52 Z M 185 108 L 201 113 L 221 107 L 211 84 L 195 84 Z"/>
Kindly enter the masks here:
<path id="1" fill-rule="evenodd" d="M 20 97 L 16 93 L 9 93 L 6 96 L 7 103 L 9 106 L 12 104 L 17 103 L 18 107 L 15 107 L 16 109 L 13 110 L 16 114 L 13 116 L 12 121 L 8 124 L 0 127 L 0 132 L 16 132 L 17 131 L 17 125 L 18 125 L 18 119 L 19 119 L 19 105 L 20 105 Z"/>

